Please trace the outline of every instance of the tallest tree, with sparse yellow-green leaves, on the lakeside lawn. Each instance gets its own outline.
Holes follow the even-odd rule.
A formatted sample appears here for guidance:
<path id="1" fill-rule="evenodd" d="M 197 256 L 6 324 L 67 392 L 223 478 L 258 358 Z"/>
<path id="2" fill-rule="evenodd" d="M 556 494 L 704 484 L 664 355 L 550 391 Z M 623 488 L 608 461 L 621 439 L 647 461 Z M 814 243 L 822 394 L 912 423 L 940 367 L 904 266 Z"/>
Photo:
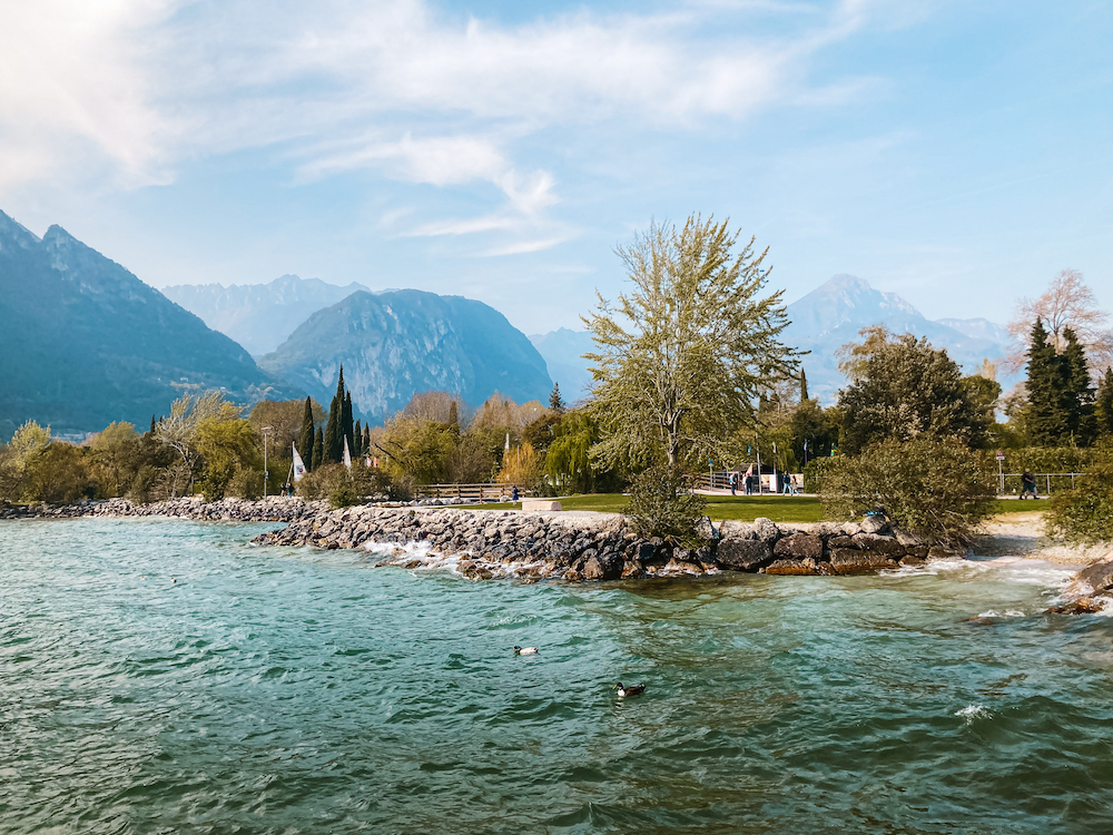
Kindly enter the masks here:
<path id="1" fill-rule="evenodd" d="M 754 238 L 739 248 L 727 223 L 653 224 L 617 249 L 633 291 L 613 305 L 600 295 L 583 318 L 601 462 L 702 466 L 754 423 L 759 391 L 795 373 L 798 352 L 778 341 L 782 292 L 759 297 L 768 250 L 755 254 Z"/>

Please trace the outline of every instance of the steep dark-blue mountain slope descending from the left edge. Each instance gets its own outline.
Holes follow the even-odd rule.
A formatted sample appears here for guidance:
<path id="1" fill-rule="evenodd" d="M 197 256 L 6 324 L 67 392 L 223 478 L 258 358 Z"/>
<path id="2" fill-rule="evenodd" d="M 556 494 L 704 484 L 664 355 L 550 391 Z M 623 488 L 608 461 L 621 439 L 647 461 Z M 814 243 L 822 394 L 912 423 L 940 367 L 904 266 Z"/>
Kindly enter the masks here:
<path id="1" fill-rule="evenodd" d="M 60 226 L 39 238 L 0 212 L 0 439 L 146 428 L 183 392 L 298 394 L 197 316 Z"/>

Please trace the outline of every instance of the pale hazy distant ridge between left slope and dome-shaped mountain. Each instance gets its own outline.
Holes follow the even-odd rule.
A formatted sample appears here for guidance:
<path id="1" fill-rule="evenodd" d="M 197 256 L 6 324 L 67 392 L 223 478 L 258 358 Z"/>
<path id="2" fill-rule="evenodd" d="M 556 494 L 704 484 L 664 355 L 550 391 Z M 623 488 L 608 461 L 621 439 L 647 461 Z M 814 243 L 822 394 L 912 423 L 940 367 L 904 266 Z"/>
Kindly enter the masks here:
<path id="1" fill-rule="evenodd" d="M 270 353 L 294 328 L 322 307 L 371 287 L 353 282 L 346 287 L 319 278 L 284 275 L 269 284 L 176 284 L 162 294 L 201 317 L 206 325 L 230 336 L 253 356 Z"/>

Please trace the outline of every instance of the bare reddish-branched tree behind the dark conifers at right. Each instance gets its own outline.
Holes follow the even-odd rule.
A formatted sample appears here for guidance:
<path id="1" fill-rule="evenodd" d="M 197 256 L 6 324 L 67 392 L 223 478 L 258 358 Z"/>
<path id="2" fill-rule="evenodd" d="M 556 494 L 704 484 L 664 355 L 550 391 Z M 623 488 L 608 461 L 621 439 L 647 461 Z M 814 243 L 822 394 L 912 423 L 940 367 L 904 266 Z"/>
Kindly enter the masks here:
<path id="1" fill-rule="evenodd" d="M 1022 341 L 1030 335 L 1032 323 L 1037 318 L 1045 324 L 1048 342 L 1056 354 L 1066 350 L 1066 330 L 1071 328 L 1095 372 L 1101 373 L 1113 362 L 1113 331 L 1106 326 L 1109 314 L 1097 307 L 1093 291 L 1077 269 L 1060 272 L 1040 298 L 1020 299 L 1008 331 Z M 1020 369 L 1024 357 L 1023 348 L 1017 347 L 1008 362 L 1014 370 Z"/>

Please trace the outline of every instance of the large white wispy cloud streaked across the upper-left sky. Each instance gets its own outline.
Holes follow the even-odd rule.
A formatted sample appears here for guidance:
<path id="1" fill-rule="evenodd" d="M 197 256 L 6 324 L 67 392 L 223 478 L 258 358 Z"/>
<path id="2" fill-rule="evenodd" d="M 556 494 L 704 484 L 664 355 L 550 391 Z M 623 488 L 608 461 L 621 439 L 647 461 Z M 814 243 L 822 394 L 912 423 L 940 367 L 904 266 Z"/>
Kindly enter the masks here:
<path id="1" fill-rule="evenodd" d="M 499 205 L 487 215 L 411 233 L 501 230 L 521 237 L 486 252 L 535 250 L 561 237 L 548 217 L 558 184 L 550 166 L 519 158 L 523 138 L 607 120 L 692 130 L 811 106 L 809 56 L 890 6 L 695 2 L 504 24 L 426 0 L 9 3 L 0 196 L 90 171 L 164 183 L 186 159 L 280 147 L 303 179 L 371 168 L 445 189 L 489 183 Z M 784 24 L 716 26 L 754 14 Z M 825 88 L 848 98 L 856 84 Z"/>

